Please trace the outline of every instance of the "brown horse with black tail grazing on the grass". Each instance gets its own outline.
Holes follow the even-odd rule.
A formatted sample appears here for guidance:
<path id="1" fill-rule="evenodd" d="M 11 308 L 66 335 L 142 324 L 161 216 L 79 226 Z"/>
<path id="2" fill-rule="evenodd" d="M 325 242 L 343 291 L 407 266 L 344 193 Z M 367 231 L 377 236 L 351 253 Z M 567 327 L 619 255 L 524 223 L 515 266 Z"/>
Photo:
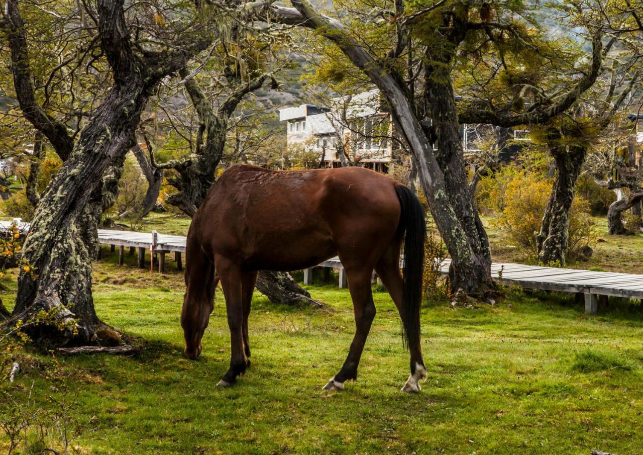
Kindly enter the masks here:
<path id="1" fill-rule="evenodd" d="M 404 277 L 400 247 L 404 236 Z M 186 251 L 181 311 L 185 355 L 201 353 L 201 338 L 221 279 L 231 337 L 230 369 L 218 385 L 234 384 L 250 365 L 248 315 L 258 270 L 292 271 L 335 255 L 349 282 L 357 330 L 349 355 L 324 389 L 357 379 L 359 358 L 375 317 L 370 279 L 381 278 L 402 318 L 411 376 L 403 391 L 426 378 L 420 347 L 420 302 L 426 225 L 424 210 L 401 183 L 360 167 L 267 171 L 230 167 L 197 210 Z"/>

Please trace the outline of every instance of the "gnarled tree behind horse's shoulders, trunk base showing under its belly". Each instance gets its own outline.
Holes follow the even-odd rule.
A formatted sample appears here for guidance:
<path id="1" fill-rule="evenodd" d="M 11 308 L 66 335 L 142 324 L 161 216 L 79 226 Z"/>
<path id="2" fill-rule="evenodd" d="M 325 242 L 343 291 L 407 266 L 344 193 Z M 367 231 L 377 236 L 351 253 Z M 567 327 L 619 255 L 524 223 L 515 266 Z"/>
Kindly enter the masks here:
<path id="1" fill-rule="evenodd" d="M 224 158 L 231 120 L 239 104 L 246 95 L 264 85 L 270 84 L 272 89 L 278 88 L 273 71 L 266 72 L 265 65 L 262 65 L 264 55 L 253 50 L 253 44 L 247 43 L 246 47 L 241 46 L 239 42 L 236 43 L 236 46 L 246 47 L 246 61 L 243 63 L 238 53 L 235 56 L 226 53 L 230 43 L 227 46 L 225 44 L 222 42 L 221 45 L 224 49 L 221 65 L 212 65 L 215 69 L 203 75 L 208 80 L 206 85 L 211 88 L 210 93 L 199 84 L 197 75 L 191 75 L 187 69 L 179 71 L 179 77 L 185 81 L 185 91 L 197 117 L 196 140 L 194 149 L 190 150 L 192 153 L 185 158 L 157 163 L 152 142 L 149 136 L 145 135 L 152 167 L 173 171 L 172 175 L 168 175 L 167 181 L 177 191 L 170 194 L 167 203 L 181 209 L 190 217 L 194 216 L 215 181 L 217 167 Z M 172 122 L 172 125 L 176 124 L 177 122 Z M 181 136 L 189 137 L 190 133 L 191 131 Z M 190 145 L 188 142 L 187 146 Z M 319 302 L 314 301 L 310 293 L 287 273 L 260 272 L 257 289 L 271 302 L 319 305 Z"/>

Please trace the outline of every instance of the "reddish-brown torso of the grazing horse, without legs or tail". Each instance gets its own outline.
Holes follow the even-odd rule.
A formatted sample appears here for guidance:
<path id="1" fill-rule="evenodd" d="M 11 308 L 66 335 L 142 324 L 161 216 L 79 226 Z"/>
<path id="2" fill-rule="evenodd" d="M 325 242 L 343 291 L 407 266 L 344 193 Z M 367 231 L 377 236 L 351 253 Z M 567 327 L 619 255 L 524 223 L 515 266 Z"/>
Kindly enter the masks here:
<path id="1" fill-rule="evenodd" d="M 399 221 L 396 182 L 360 167 L 270 171 L 230 167 L 195 218 L 213 254 L 248 268 L 297 270 L 342 245 L 390 241 Z M 361 248 L 358 248 L 361 249 Z"/>

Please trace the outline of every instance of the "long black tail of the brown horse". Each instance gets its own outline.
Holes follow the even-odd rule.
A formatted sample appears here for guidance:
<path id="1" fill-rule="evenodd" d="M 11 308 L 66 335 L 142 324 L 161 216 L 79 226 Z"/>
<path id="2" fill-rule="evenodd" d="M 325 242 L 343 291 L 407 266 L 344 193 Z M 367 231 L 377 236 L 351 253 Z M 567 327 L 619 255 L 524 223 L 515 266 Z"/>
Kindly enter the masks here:
<path id="1" fill-rule="evenodd" d="M 401 213 L 398 229 L 404 236 L 404 290 L 402 294 L 402 339 L 407 347 L 420 342 L 420 305 L 424 273 L 424 241 L 426 220 L 420 200 L 404 185 L 395 187 Z"/>

